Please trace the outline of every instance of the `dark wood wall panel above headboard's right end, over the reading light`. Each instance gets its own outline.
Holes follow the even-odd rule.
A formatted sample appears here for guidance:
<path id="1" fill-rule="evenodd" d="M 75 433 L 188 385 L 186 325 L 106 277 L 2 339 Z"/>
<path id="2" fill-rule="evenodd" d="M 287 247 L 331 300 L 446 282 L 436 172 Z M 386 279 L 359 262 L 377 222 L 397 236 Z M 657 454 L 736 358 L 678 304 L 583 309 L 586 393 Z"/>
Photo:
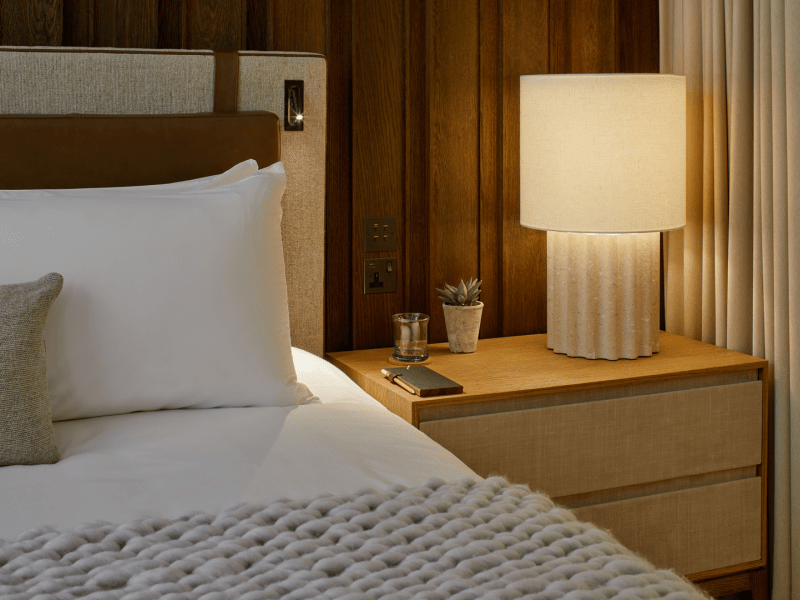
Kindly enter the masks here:
<path id="1" fill-rule="evenodd" d="M 272 0 L 272 7 L 272 50 L 325 53 L 326 0 Z"/>

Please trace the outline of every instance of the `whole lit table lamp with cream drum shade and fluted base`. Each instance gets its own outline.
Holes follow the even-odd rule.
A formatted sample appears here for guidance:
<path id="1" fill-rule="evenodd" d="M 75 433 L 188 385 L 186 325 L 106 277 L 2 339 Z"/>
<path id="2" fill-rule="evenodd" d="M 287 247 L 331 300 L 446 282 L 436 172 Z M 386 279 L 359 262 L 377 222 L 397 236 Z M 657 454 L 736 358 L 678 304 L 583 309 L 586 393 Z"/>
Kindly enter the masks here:
<path id="1" fill-rule="evenodd" d="M 547 231 L 547 347 L 658 352 L 659 232 L 686 224 L 686 80 L 520 77 L 520 223 Z"/>

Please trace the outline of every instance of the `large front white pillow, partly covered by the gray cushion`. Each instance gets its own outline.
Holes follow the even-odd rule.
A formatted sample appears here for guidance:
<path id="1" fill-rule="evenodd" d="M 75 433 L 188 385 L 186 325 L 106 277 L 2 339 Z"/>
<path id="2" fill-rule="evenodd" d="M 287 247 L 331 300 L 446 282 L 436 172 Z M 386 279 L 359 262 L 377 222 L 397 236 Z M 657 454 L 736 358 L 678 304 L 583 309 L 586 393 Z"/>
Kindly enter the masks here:
<path id="1" fill-rule="evenodd" d="M 53 420 L 312 397 L 291 356 L 282 163 L 179 193 L 0 201 L 0 284 L 58 272 Z"/>

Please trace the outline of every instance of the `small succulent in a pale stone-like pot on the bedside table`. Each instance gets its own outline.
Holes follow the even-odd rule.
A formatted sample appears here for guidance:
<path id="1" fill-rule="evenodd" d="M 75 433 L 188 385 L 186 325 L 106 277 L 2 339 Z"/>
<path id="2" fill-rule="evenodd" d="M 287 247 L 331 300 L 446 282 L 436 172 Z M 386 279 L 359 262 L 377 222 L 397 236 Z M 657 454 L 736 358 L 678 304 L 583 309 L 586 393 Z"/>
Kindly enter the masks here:
<path id="1" fill-rule="evenodd" d="M 478 348 L 478 334 L 481 329 L 481 313 L 483 302 L 478 300 L 481 293 L 481 282 L 470 279 L 469 283 L 461 283 L 454 287 L 445 283 L 444 289 L 436 288 L 442 294 L 444 322 L 447 326 L 447 341 L 450 352 L 470 353 Z"/>

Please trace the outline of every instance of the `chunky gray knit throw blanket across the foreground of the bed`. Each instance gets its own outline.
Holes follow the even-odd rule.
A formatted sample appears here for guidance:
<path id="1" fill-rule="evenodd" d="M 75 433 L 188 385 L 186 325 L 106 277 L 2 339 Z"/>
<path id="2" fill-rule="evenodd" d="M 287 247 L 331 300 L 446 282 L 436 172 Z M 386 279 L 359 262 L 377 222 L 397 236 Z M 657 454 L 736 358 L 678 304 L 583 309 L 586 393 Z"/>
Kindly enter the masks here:
<path id="1" fill-rule="evenodd" d="M 5 600 L 704 600 L 545 496 L 432 480 L 0 540 Z"/>

